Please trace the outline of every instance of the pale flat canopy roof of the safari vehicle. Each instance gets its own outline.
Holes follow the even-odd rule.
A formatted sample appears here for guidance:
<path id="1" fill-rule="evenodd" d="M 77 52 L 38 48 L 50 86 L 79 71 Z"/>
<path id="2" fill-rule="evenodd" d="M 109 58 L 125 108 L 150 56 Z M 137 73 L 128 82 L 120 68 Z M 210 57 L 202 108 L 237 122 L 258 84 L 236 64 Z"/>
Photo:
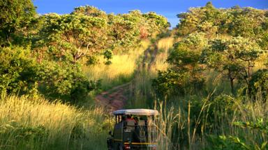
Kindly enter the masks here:
<path id="1" fill-rule="evenodd" d="M 151 109 L 126 109 L 126 110 L 116 110 L 112 114 L 114 115 L 158 115 L 157 110 Z"/>

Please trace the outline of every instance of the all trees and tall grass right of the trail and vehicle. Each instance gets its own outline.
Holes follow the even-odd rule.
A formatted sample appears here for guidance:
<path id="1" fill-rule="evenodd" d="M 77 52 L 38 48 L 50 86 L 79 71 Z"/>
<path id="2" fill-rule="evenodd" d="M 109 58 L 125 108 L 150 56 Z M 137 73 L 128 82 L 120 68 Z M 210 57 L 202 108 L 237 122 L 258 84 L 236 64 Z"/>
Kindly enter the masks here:
<path id="1" fill-rule="evenodd" d="M 163 149 L 268 149 L 267 10 L 209 2 L 178 17 L 168 68 L 147 95 L 168 117 Z"/>

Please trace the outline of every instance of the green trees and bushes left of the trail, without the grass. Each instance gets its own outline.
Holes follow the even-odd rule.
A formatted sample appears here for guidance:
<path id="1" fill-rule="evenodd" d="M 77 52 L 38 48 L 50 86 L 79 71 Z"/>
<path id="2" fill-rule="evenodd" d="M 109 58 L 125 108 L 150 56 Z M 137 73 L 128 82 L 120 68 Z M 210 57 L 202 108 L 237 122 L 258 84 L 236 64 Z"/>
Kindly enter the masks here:
<path id="1" fill-rule="evenodd" d="M 1 14 L 0 92 L 72 103 L 101 88 L 101 78 L 89 81 L 82 66 L 103 63 L 99 56 L 110 65 L 113 54 L 134 51 L 168 27 L 165 17 L 139 10 L 113 15 L 81 6 L 66 15 L 37 15 L 31 1 L 2 6 L 7 13 Z"/>

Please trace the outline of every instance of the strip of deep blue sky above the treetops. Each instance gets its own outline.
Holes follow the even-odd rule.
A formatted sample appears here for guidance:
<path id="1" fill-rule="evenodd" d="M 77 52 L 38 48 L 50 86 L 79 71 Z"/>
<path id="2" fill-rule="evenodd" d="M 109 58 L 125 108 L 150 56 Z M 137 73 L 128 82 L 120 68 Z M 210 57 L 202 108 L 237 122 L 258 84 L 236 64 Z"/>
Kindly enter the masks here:
<path id="1" fill-rule="evenodd" d="M 126 13 L 129 10 L 141 10 L 142 12 L 154 11 L 164 15 L 176 26 L 180 12 L 186 12 L 190 7 L 204 6 L 209 0 L 34 0 L 37 12 L 45 14 L 57 12 L 66 14 L 78 6 L 95 6 L 107 13 Z M 253 7 L 267 9 L 267 0 L 212 0 L 216 8 L 230 8 L 232 6 Z"/>

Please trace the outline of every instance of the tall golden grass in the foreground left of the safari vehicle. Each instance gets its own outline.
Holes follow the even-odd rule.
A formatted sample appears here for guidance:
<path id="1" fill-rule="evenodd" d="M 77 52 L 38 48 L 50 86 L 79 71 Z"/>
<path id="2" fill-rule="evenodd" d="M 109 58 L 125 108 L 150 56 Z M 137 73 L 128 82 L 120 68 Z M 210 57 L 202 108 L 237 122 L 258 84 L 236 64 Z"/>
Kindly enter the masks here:
<path id="1" fill-rule="evenodd" d="M 112 119 L 101 108 L 2 96 L 0 149 L 105 149 Z"/>

